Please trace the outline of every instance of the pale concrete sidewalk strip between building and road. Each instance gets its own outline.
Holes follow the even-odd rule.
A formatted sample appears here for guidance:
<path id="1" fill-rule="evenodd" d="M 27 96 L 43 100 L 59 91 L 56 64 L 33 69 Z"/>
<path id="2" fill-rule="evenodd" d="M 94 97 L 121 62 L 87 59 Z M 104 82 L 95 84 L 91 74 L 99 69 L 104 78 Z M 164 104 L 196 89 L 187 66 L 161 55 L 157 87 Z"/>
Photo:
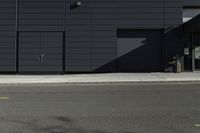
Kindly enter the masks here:
<path id="1" fill-rule="evenodd" d="M 200 73 L 108 73 L 67 75 L 0 75 L 0 84 L 200 82 Z"/>

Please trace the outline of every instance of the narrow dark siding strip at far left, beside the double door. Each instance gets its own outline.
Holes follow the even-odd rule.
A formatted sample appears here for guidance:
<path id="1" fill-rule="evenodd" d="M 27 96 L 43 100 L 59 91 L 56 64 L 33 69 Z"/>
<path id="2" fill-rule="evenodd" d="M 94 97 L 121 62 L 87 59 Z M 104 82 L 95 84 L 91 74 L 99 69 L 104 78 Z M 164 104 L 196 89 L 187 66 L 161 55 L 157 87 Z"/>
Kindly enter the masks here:
<path id="1" fill-rule="evenodd" d="M 0 0 L 0 72 L 15 71 L 15 0 Z"/>

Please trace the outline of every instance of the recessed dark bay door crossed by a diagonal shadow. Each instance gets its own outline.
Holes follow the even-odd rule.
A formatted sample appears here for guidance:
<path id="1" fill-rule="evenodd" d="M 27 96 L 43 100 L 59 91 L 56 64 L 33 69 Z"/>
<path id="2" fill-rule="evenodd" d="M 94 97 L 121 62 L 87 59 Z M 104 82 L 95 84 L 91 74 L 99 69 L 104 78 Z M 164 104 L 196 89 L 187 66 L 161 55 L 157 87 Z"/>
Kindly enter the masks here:
<path id="1" fill-rule="evenodd" d="M 163 71 L 162 30 L 117 31 L 120 72 Z"/>

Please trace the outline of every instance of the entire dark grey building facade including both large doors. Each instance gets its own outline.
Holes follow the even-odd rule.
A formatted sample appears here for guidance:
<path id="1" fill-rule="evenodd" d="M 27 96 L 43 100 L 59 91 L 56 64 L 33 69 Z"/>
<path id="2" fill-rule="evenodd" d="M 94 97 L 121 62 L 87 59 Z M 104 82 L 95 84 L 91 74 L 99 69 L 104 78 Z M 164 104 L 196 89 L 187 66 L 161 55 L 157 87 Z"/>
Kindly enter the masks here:
<path id="1" fill-rule="evenodd" d="M 0 0 L 0 72 L 163 72 L 174 57 L 184 71 L 182 14 L 192 4 Z"/>

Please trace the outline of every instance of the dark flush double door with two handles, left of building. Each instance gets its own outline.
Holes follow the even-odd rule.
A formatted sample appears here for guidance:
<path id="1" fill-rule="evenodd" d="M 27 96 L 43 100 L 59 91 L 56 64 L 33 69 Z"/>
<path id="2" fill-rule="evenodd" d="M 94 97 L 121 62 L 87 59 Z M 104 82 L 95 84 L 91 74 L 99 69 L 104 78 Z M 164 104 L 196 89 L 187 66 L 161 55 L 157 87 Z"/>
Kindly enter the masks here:
<path id="1" fill-rule="evenodd" d="M 63 32 L 19 32 L 19 73 L 62 73 Z"/>

